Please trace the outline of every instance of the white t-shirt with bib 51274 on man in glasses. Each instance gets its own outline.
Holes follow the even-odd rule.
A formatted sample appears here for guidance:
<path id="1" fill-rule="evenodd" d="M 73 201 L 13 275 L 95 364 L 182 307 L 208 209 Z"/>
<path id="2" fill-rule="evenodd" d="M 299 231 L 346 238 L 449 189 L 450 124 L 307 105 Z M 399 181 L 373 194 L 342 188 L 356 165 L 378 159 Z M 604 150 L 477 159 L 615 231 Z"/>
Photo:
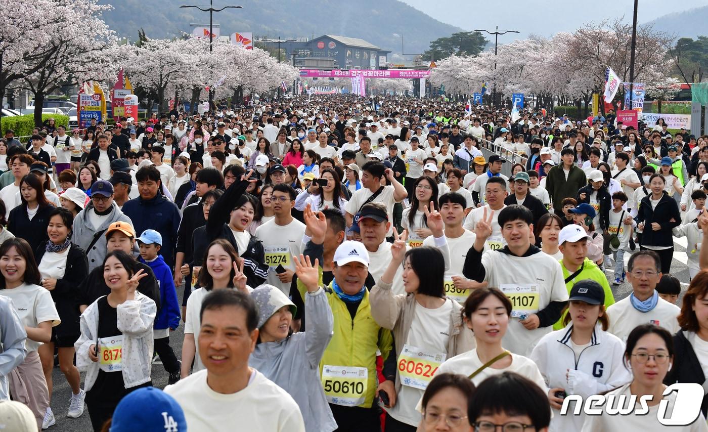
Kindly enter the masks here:
<path id="1" fill-rule="evenodd" d="M 275 273 L 275 268 L 282 265 L 295 271 L 295 262 L 292 256 L 299 256 L 302 252 L 302 234 L 305 232 L 305 225 L 297 219 L 293 219 L 287 225 L 278 225 L 275 219 L 262 224 L 256 229 L 256 237 L 263 242 L 265 249 L 265 263 L 268 263 L 267 283 L 280 288 L 285 295 L 290 294 L 290 283 L 282 283 Z"/>

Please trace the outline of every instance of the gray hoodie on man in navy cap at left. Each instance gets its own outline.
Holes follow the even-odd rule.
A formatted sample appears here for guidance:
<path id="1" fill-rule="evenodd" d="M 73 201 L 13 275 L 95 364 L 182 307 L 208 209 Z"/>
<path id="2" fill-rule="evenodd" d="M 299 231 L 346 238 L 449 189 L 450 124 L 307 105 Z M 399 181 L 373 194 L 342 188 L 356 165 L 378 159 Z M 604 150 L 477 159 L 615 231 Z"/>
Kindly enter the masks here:
<path id="1" fill-rule="evenodd" d="M 81 212 L 74 217 L 72 242 L 86 251 L 86 256 L 89 258 L 89 273 L 94 268 L 103 264 L 103 258 L 105 258 L 106 254 L 106 239 L 103 234 L 105 233 L 105 229 L 108 228 L 108 225 L 120 221 L 127 222 L 132 226 L 130 217 L 127 217 L 120 211 L 115 201 L 111 204 L 111 207 L 113 210 L 111 210 L 108 219 L 104 220 L 103 224 L 101 227 L 98 227 L 98 229 L 94 228 L 93 224 L 91 224 L 91 220 L 89 220 L 89 212 L 93 212 L 92 202 L 89 201 L 89 205 L 86 205 L 86 208 L 81 210 Z M 99 238 L 94 243 L 93 238 L 95 236 Z M 91 246 L 91 243 L 93 243 L 93 246 Z M 89 250 L 89 246 L 91 246 L 91 250 Z"/>

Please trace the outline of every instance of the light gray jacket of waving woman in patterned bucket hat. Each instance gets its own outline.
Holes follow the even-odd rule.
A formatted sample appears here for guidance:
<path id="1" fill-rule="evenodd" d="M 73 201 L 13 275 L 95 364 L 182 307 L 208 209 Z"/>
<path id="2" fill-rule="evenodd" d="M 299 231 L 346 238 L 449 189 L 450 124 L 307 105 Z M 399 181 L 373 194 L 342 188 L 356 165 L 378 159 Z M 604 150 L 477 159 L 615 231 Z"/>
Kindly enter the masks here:
<path id="1" fill-rule="evenodd" d="M 322 288 L 306 297 L 307 331 L 279 342 L 258 343 L 249 365 L 295 399 L 307 432 L 331 432 L 337 424 L 324 397 L 319 361 L 332 339 L 334 318 Z"/>

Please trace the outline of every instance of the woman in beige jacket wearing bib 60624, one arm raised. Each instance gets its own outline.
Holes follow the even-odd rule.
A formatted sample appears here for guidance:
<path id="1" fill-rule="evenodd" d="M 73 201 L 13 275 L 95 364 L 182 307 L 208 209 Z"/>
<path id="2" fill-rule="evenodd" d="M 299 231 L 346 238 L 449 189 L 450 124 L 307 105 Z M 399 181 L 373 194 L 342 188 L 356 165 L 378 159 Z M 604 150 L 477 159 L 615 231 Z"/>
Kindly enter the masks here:
<path id="1" fill-rule="evenodd" d="M 435 232 L 442 231 L 442 216 L 428 215 Z M 371 290 L 371 315 L 396 340 L 396 404 L 387 411 L 387 430 L 415 431 L 421 422 L 416 404 L 430 383 L 432 372 L 446 358 L 466 353 L 474 346 L 472 332 L 462 322 L 462 306 L 445 297 L 445 260 L 439 249 L 423 246 L 406 251 L 406 231 L 394 229 L 391 261 Z M 403 266 L 405 292 L 392 291 L 394 276 Z M 307 305 L 307 302 L 306 302 Z M 429 370 L 416 371 L 424 360 Z M 390 429 L 389 429 L 390 428 Z"/>

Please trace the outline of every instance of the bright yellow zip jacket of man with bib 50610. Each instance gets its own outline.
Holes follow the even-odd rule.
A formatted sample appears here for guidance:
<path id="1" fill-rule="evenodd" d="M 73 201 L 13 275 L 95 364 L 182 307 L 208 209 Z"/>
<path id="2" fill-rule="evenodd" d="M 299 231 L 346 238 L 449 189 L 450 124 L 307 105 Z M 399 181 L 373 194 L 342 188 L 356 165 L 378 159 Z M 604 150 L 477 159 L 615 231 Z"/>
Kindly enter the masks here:
<path id="1" fill-rule="evenodd" d="M 304 295 L 306 288 L 299 280 L 297 288 L 302 298 L 307 298 Z M 334 334 L 329 346 L 324 351 L 322 361 L 319 363 L 320 377 L 322 377 L 322 370 L 325 365 L 367 368 L 365 399 L 358 407 L 370 408 L 374 402 L 376 387 L 378 386 L 376 353 L 380 351 L 382 358 L 385 360 L 393 346 L 393 336 L 391 331 L 379 326 L 372 318 L 369 290 L 364 291 L 364 297 L 359 304 L 354 319 L 349 313 L 346 302 L 334 293 L 331 285 L 324 288 L 324 291 L 334 316 Z M 346 381 L 354 382 L 353 380 Z M 342 386 L 342 382 L 334 384 L 329 377 L 324 377 L 322 384 L 325 387 L 325 396 L 330 402 L 332 402 L 330 399 L 332 394 L 346 395 L 343 391 L 331 392 L 331 390 L 344 390 L 346 385 Z M 333 385 L 335 386 L 334 389 L 332 389 Z"/>

